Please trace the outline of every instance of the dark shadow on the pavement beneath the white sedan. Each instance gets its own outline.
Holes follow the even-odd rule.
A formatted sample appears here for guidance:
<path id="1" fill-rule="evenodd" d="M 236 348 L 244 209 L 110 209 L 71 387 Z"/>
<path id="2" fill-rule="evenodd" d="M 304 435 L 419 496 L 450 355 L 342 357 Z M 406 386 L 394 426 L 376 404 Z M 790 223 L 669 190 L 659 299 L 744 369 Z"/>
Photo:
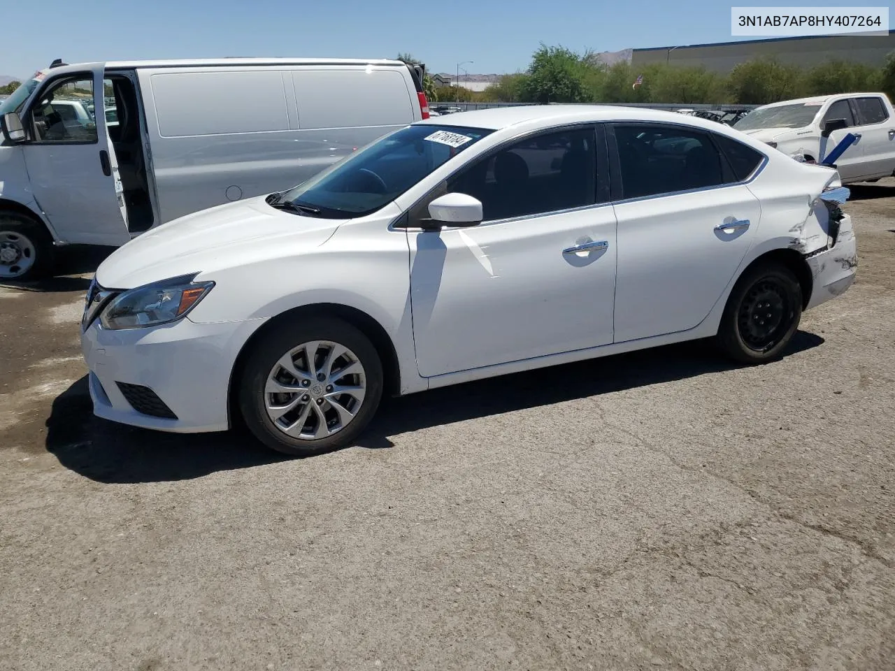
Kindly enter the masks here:
<path id="1" fill-rule="evenodd" d="M 798 331 L 786 355 L 819 344 L 820 335 Z M 386 399 L 355 445 L 388 448 L 390 437 L 417 429 L 735 368 L 696 341 L 447 386 Z M 188 480 L 289 458 L 244 431 L 171 434 L 100 420 L 93 416 L 86 376 L 55 398 L 46 446 L 64 467 L 106 483 Z"/>

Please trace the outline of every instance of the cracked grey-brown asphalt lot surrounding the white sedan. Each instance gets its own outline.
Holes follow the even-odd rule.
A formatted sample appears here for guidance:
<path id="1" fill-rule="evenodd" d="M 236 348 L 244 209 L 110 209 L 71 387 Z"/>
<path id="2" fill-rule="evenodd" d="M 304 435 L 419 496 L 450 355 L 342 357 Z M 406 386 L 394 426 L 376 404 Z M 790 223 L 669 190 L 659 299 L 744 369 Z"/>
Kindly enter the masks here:
<path id="1" fill-rule="evenodd" d="M 358 446 L 94 419 L 101 251 L 0 288 L 0 669 L 895 668 L 895 180 L 782 361 L 389 401 Z"/>

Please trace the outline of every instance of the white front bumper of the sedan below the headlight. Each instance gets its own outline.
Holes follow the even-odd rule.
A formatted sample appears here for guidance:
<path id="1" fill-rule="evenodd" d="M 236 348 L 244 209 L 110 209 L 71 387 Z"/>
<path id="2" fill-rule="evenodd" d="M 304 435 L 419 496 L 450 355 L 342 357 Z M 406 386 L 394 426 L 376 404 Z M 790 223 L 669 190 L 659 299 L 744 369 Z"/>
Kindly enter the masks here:
<path id="1" fill-rule="evenodd" d="M 229 428 L 230 374 L 243 344 L 267 319 L 110 331 L 98 320 L 81 335 L 93 412 L 105 420 L 179 433 Z M 177 419 L 138 412 L 118 385 L 147 387 Z M 133 397 L 132 397 L 133 400 Z"/>

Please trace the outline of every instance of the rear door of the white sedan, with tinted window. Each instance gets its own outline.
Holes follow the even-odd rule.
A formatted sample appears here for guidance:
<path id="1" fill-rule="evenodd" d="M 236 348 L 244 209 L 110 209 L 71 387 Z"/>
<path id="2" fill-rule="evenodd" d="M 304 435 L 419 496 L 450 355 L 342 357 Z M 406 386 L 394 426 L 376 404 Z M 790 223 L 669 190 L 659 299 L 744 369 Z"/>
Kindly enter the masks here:
<path id="1" fill-rule="evenodd" d="M 670 124 L 619 124 L 614 135 L 615 342 L 686 331 L 746 256 L 761 206 L 743 182 L 763 157 L 739 145 L 729 166 L 709 133 Z"/>

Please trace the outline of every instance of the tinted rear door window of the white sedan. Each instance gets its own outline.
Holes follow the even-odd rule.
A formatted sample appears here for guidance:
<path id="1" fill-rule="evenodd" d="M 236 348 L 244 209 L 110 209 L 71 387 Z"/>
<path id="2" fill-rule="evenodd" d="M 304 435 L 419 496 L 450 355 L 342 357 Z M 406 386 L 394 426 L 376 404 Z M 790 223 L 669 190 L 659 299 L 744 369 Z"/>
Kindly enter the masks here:
<path id="1" fill-rule="evenodd" d="M 654 196 L 724 183 L 708 133 L 678 126 L 616 126 L 623 198 Z"/>

